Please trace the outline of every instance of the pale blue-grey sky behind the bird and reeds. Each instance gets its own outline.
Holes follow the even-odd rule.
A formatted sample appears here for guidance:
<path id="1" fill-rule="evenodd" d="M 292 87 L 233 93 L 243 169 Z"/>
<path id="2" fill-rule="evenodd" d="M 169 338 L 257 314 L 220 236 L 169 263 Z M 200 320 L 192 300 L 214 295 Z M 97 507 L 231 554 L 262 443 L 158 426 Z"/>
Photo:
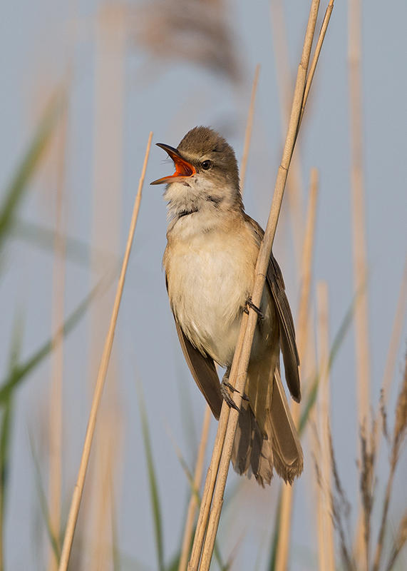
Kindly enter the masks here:
<path id="1" fill-rule="evenodd" d="M 113 198 L 117 196 L 122 204 L 120 255 L 128 232 L 148 132 L 154 131 L 155 142 L 177 146 L 188 129 L 197 124 L 210 125 L 225 133 L 240 159 L 252 77 L 257 63 L 262 67 L 244 203 L 247 212 L 263 226 L 267 220 L 282 148 L 269 2 L 238 0 L 226 6 L 227 21 L 234 34 L 237 60 L 242 72 L 239 85 L 185 61 L 153 61 L 143 46 L 135 41 L 138 12 L 135 11 L 134 17 L 126 19 L 123 139 L 120 141 L 123 152 L 119 153 L 123 182 L 120 188 L 110 188 Z M 395 0 L 391 8 L 389 6 L 378 0 L 366 1 L 363 15 L 369 340 L 375 407 L 407 253 L 407 7 L 401 0 Z M 92 188 L 99 168 L 93 166 L 96 152 L 93 128 L 96 126 L 96 14 L 100 7 L 98 1 L 15 1 L 2 7 L 0 23 L 0 188 L 5 188 L 14 172 L 38 121 L 38 113 L 55 86 L 63 80 L 70 58 L 72 87 L 65 216 L 69 236 L 86 243 L 91 239 Z M 130 7 L 137 9 L 138 3 L 130 4 Z M 294 77 L 304 37 L 308 3 L 287 0 L 284 9 Z M 346 10 L 346 2 L 336 1 L 297 148 L 297 152 L 301 152 L 303 188 L 308 184 L 310 168 L 319 168 L 321 185 L 313 296 L 315 281 L 328 281 L 331 340 L 353 295 Z M 321 8 L 323 11 L 324 6 Z M 105 110 L 105 113 L 109 113 L 109 110 Z M 195 421 L 197 433 L 204 410 L 204 400 L 190 378 L 177 344 L 161 270 L 161 256 L 165 248 L 165 204 L 161 189 L 149 187 L 148 182 L 168 173 L 170 165 L 163 158 L 163 151 L 153 147 L 115 343 L 117 406 L 123 432 L 116 505 L 119 547 L 123 555 L 136 557 L 150 570 L 156 568 L 155 548 L 136 380 L 143 384 L 148 410 L 162 499 L 167 561 L 179 545 L 187 498 L 185 475 L 177 460 L 172 439 L 191 463 L 190 442 L 191 439 L 193 442 L 195 435 L 185 434 L 182 406 L 185 407 L 190 399 L 190 416 Z M 103 173 L 103 168 L 108 166 L 101 165 L 100 168 L 99 172 Z M 54 196 L 55 176 L 48 168 L 32 185 L 21 207 L 21 218 L 53 228 Z M 105 198 L 101 196 L 101 200 Z M 287 219 L 283 212 L 284 218 Z M 299 284 L 294 278 L 290 226 L 287 224 L 280 224 L 277 230 L 274 253 L 286 276 L 289 299 L 295 313 Z M 1 263 L 0 371 L 3 375 L 9 354 L 10 332 L 18 311 L 24 314 L 23 356 L 30 355 L 50 335 L 52 256 L 49 251 L 15 240 L 9 241 Z M 86 295 L 92 280 L 89 269 L 78 263 L 68 262 L 66 272 L 68 313 Z M 89 408 L 89 333 L 90 323 L 85 319 L 66 343 L 63 481 L 66 502 L 71 497 L 76 477 Z M 398 380 L 401 378 L 406 337 L 404 324 L 396 363 Z M 354 338 L 351 330 L 331 373 L 331 403 L 339 470 L 353 503 L 357 486 L 354 369 Z M 11 492 L 6 508 L 6 569 L 10 570 L 42 569 L 44 565 L 45 551 L 42 544 L 39 545 L 38 537 L 45 543 L 45 535 L 39 531 L 43 527 L 43 520 L 39 515 L 29 433 L 41 450 L 46 430 L 43 418 L 46 414 L 49 376 L 47 362 L 24 383 L 16 400 Z M 393 397 L 394 394 L 393 391 Z M 212 436 L 214 434 L 215 423 L 212 425 Z M 386 471 L 381 470 L 381 473 L 385 475 Z M 396 483 L 398 497 L 402 497 L 402 475 L 406 475 L 405 458 Z M 45 462 L 43 477 L 45 481 Z M 292 570 L 315 568 L 316 540 L 311 519 L 313 478 L 311 456 L 306 455 L 304 476 L 298 482 L 296 493 L 298 501 L 294 511 Z M 237 478 L 231 473 L 230 486 L 236 481 Z M 220 548 L 225 559 L 236 542 L 242 539 L 234 569 L 251 569 L 250 561 L 257 557 L 260 547 L 264 548 L 269 542 L 278 486 L 279 483 L 274 480 L 270 489 L 259 490 L 254 482 L 244 482 L 238 500 L 222 515 Z M 382 493 L 383 480 L 378 484 L 378 497 Z M 391 509 L 395 521 L 402 507 L 400 502 L 393 503 Z M 260 552 L 259 569 L 266 569 L 265 550 Z"/>

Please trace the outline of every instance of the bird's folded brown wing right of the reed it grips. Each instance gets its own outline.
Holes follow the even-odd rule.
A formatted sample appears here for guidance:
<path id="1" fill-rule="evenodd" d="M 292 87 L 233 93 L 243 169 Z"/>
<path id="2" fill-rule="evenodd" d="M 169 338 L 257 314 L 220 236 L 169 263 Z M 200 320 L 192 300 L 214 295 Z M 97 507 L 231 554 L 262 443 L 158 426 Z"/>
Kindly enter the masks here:
<path id="1" fill-rule="evenodd" d="M 264 231 L 253 218 L 245 215 L 245 218 L 249 224 L 252 225 L 254 231 L 257 234 L 257 238 L 260 242 L 263 239 Z M 285 293 L 285 285 L 282 276 L 282 271 L 274 258 L 273 254 L 270 254 L 269 266 L 267 268 L 266 283 L 269 286 L 270 293 L 274 300 L 274 304 L 277 310 L 277 316 L 279 320 L 280 329 L 280 348 L 283 354 L 284 360 L 284 370 L 287 380 L 287 386 L 292 398 L 299 403 L 301 400 L 301 390 L 299 388 L 299 356 L 297 351 L 297 344 L 295 342 L 295 330 L 294 321 L 292 319 L 291 309 L 289 308 L 289 303 L 287 300 L 287 295 Z"/>

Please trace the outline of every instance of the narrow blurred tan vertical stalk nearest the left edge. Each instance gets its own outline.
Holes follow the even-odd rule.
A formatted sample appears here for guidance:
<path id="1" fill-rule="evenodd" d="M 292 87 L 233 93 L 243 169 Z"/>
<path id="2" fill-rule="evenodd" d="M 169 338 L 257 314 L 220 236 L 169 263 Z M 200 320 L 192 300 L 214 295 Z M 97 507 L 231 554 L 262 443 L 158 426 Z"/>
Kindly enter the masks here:
<path id="1" fill-rule="evenodd" d="M 58 156 L 56 181 L 56 222 L 53 241 L 53 291 L 51 328 L 53 331 L 51 351 L 51 390 L 49 403 L 49 525 L 60 549 L 61 487 L 62 487 L 62 382 L 63 382 L 63 305 L 65 298 L 65 253 L 66 236 L 63 223 L 63 188 L 65 185 L 67 110 L 61 116 L 58 129 Z M 58 569 L 58 557 L 50 547 L 48 569 Z"/>

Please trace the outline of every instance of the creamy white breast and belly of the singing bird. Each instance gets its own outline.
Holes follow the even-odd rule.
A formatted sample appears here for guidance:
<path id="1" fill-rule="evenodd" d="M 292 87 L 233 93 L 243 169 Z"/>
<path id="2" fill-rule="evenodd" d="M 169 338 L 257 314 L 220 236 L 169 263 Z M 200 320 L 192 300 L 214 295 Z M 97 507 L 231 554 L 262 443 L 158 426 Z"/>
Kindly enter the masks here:
<path id="1" fill-rule="evenodd" d="M 221 365 L 232 361 L 244 302 L 253 286 L 257 245 L 242 231 L 198 231 L 198 215 L 177 221 L 164 266 L 168 295 L 185 335 Z"/>

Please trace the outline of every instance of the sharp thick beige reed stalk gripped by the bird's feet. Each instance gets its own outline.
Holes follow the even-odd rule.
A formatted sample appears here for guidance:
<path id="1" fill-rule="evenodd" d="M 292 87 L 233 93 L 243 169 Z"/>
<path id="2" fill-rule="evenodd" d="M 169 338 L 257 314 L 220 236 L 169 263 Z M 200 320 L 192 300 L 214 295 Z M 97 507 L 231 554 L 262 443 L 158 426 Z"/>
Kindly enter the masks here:
<path id="1" fill-rule="evenodd" d="M 272 250 L 272 243 L 274 241 L 274 235 L 277 227 L 279 211 L 282 205 L 282 197 L 284 194 L 285 183 L 287 181 L 289 163 L 291 161 L 292 153 L 294 151 L 294 143 L 297 133 L 299 115 L 301 113 L 302 99 L 304 96 L 304 89 L 306 84 L 306 71 L 309 65 L 309 56 L 311 53 L 312 40 L 314 38 L 314 29 L 316 23 L 316 16 L 318 14 L 318 7 L 319 7 L 319 1 L 313 0 L 311 2 L 309 21 L 306 29 L 304 48 L 302 52 L 302 60 L 299 64 L 299 69 L 297 74 L 297 82 L 294 91 L 294 100 L 292 103 L 292 113 L 289 121 L 287 138 L 284 145 L 282 163 L 280 164 L 279 171 L 277 173 L 277 181 L 274 188 L 274 196 L 272 201 L 272 207 L 269 213 L 269 220 L 267 221 L 267 228 L 264 233 L 262 245 L 259 250 L 259 256 L 257 258 L 254 289 L 252 292 L 252 300 L 254 304 L 259 304 L 262 297 L 262 290 L 264 288 L 264 279 L 267 273 L 267 265 Z M 230 382 L 233 385 L 235 385 L 237 389 L 237 392 L 234 393 L 234 399 L 235 403 L 238 406 L 241 404 L 242 401 L 241 395 L 244 391 L 244 384 L 247 376 L 247 365 L 249 363 L 249 355 L 252 347 L 252 340 L 256 323 L 257 323 L 257 314 L 254 311 L 249 311 L 248 316 L 247 315 L 243 316 L 242 325 L 239 333 L 239 340 L 237 342 L 237 348 L 235 350 L 235 357 L 233 359 L 232 368 L 230 371 Z M 213 473 L 215 473 L 216 477 L 216 474 L 218 472 L 217 483 L 213 497 L 212 510 L 210 512 L 210 519 L 207 525 L 205 545 L 202 550 L 202 561 L 200 565 L 201 571 L 206 571 L 209 569 L 213 547 L 215 545 L 215 537 L 220 519 L 220 511 L 222 509 L 223 493 L 225 490 L 227 472 L 229 470 L 229 465 L 230 465 L 230 456 L 232 453 L 232 445 L 235 436 L 238 415 L 239 413 L 237 412 L 237 410 L 235 409 L 229 410 L 227 405 L 223 403 L 220 415 L 220 423 L 217 430 L 217 440 L 215 440 L 215 448 L 212 455 L 212 458 L 217 458 L 219 457 L 219 455 L 221 455 L 219 470 L 217 470 L 217 466 L 212 465 L 211 461 L 210 470 L 208 470 L 208 476 L 207 476 L 207 480 L 212 480 Z M 223 431 L 225 431 L 225 438 L 223 438 Z M 218 448 L 216 445 L 218 445 Z M 220 453 L 221 450 L 222 453 Z M 212 470 L 213 469 L 215 470 L 213 470 L 212 472 L 211 468 Z M 205 512 L 208 505 L 210 505 L 210 498 L 205 497 L 202 501 L 201 512 Z M 200 520 L 198 520 L 198 525 L 200 525 Z M 201 530 L 197 530 L 195 537 L 197 537 L 198 534 L 202 535 Z M 203 534 L 205 534 L 205 530 Z M 194 547 L 192 548 L 192 557 L 188 568 L 190 570 L 196 570 L 199 560 L 200 560 L 200 545 L 195 545 L 195 549 Z"/>

